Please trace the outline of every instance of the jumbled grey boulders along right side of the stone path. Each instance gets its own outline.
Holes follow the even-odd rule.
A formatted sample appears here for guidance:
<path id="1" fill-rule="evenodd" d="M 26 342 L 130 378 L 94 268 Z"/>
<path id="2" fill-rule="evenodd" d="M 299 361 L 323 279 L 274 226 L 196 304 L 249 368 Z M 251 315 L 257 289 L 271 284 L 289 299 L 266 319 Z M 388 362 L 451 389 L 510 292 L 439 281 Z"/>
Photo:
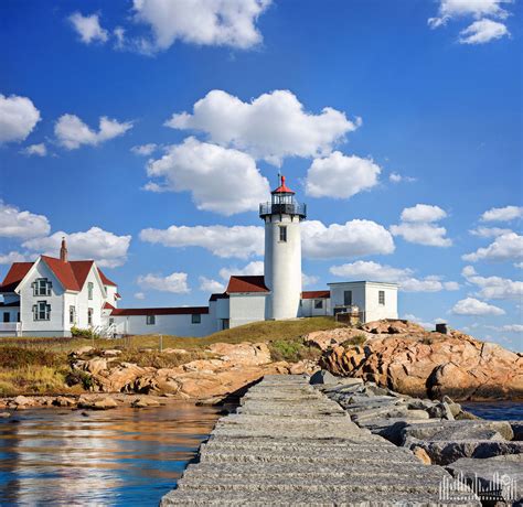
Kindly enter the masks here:
<path id="1" fill-rule="evenodd" d="M 483 488 L 483 505 L 523 501 L 523 421 L 482 420 L 449 397 L 413 398 L 324 370 L 310 382 L 361 429 L 410 450 L 426 465 L 444 466 L 477 492 Z"/>

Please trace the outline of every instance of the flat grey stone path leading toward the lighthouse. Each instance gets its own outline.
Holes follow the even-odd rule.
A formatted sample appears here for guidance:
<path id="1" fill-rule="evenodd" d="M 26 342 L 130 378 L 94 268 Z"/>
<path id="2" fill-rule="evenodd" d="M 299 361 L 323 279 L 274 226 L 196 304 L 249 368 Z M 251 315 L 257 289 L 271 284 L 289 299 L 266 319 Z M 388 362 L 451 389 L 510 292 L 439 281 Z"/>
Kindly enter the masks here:
<path id="1" fill-rule="evenodd" d="M 161 506 L 481 505 L 469 492 L 441 501 L 441 483 L 453 483 L 444 468 L 360 429 L 307 378 L 267 376 L 220 419 Z"/>

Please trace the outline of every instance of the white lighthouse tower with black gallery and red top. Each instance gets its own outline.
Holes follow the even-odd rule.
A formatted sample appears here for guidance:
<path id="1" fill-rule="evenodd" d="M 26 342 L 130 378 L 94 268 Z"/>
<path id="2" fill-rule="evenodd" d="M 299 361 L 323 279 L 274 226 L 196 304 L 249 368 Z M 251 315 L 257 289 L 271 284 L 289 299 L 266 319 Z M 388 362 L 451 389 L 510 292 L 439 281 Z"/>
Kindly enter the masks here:
<path id="1" fill-rule="evenodd" d="M 300 312 L 301 299 L 301 234 L 300 222 L 307 207 L 299 204 L 295 193 L 285 184 L 271 192 L 270 203 L 259 205 L 265 222 L 266 319 L 292 319 Z"/>

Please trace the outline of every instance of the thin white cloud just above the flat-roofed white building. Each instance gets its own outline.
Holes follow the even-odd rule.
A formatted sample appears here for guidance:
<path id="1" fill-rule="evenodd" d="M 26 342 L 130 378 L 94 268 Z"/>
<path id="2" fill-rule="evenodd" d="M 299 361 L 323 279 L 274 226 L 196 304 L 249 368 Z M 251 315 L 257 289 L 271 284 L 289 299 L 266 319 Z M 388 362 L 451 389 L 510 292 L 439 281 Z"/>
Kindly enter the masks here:
<path id="1" fill-rule="evenodd" d="M 418 279 L 414 277 L 414 270 L 409 268 L 393 268 L 373 261 L 359 260 L 352 263 L 333 266 L 330 268 L 330 272 L 337 277 L 398 283 L 399 289 L 404 292 L 439 292 L 459 289 L 457 282 L 441 281 L 441 277 L 438 276 L 433 274 Z"/>

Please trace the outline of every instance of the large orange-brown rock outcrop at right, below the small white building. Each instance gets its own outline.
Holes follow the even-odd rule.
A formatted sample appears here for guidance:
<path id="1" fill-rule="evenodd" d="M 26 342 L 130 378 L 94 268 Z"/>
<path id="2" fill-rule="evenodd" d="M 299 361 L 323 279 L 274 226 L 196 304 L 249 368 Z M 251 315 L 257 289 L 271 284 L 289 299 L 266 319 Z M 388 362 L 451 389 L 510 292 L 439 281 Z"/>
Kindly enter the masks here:
<path id="1" fill-rule="evenodd" d="M 523 355 L 458 332 L 427 333 L 412 324 L 405 324 L 409 331 L 388 334 L 391 325 L 389 321 L 365 324 L 376 333 L 374 338 L 349 349 L 333 346 L 320 366 L 416 398 L 523 399 Z M 458 413 L 452 417 L 461 417 L 458 409 L 450 407 L 450 413 Z"/>

